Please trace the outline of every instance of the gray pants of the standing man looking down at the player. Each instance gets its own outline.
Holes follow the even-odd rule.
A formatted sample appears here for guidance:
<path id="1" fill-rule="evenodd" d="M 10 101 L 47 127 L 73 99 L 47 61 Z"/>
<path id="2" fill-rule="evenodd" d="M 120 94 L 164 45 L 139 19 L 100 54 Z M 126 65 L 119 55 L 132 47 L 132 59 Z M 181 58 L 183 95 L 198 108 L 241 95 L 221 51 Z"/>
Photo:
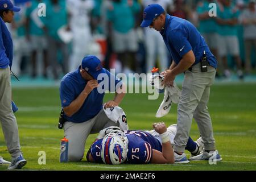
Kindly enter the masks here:
<path id="1" fill-rule="evenodd" d="M 191 130 L 192 118 L 197 122 L 205 150 L 214 150 L 212 121 L 208 112 L 210 86 L 214 82 L 216 69 L 208 66 L 208 72 L 201 72 L 200 63 L 185 72 L 180 102 L 177 106 L 177 134 L 174 151 L 184 152 Z"/>

